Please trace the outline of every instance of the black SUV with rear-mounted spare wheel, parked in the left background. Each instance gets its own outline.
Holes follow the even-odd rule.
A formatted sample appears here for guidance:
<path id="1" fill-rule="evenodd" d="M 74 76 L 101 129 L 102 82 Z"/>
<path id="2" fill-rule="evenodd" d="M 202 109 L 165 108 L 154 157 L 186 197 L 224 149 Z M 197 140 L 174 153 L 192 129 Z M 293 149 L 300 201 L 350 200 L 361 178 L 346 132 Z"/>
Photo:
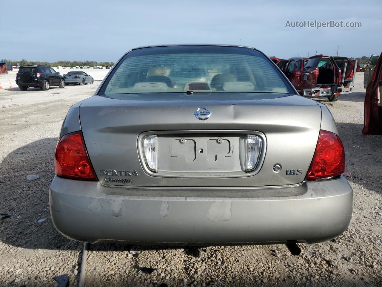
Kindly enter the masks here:
<path id="1" fill-rule="evenodd" d="M 65 78 L 48 66 L 21 66 L 16 74 L 16 84 L 21 91 L 29 87 L 47 91 L 50 86 L 65 88 Z"/>

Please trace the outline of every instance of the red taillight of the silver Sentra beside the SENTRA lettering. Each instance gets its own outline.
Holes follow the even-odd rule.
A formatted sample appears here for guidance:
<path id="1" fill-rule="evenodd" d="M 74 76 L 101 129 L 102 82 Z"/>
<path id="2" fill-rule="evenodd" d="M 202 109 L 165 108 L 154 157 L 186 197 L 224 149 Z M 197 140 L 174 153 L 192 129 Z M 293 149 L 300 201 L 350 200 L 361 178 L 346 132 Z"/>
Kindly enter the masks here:
<path id="1" fill-rule="evenodd" d="M 97 180 L 82 137 L 82 132 L 64 135 L 57 144 L 55 173 L 72 179 Z"/>

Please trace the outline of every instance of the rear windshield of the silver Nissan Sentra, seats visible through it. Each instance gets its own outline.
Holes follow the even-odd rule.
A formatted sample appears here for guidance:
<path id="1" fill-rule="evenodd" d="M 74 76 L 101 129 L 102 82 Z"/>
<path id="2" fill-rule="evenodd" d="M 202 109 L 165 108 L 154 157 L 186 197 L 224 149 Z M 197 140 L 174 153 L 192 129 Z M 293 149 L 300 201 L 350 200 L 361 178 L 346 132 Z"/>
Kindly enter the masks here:
<path id="1" fill-rule="evenodd" d="M 256 50 L 174 46 L 128 53 L 100 94 L 186 91 L 293 93 L 269 59 Z"/>

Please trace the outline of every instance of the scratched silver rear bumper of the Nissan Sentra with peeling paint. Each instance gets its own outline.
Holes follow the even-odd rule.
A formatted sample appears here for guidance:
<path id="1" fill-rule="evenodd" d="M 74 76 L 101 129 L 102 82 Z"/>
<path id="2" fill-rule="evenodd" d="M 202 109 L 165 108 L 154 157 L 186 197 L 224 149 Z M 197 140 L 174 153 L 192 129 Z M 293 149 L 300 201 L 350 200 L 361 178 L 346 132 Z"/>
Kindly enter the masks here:
<path id="1" fill-rule="evenodd" d="M 275 196 L 283 192 L 288 196 Z M 108 188 L 57 176 L 50 186 L 57 230 L 90 243 L 321 242 L 346 230 L 352 203 L 353 191 L 343 177 L 248 190 Z"/>

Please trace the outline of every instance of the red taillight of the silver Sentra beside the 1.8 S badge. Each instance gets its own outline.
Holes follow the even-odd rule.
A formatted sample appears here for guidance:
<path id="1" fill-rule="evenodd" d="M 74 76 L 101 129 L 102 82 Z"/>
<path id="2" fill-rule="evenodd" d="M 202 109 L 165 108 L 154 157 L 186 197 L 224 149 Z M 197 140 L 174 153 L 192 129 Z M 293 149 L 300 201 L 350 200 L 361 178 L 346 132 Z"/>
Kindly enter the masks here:
<path id="1" fill-rule="evenodd" d="M 327 178 L 345 171 L 345 152 L 338 135 L 320 130 L 316 151 L 305 179 Z"/>

